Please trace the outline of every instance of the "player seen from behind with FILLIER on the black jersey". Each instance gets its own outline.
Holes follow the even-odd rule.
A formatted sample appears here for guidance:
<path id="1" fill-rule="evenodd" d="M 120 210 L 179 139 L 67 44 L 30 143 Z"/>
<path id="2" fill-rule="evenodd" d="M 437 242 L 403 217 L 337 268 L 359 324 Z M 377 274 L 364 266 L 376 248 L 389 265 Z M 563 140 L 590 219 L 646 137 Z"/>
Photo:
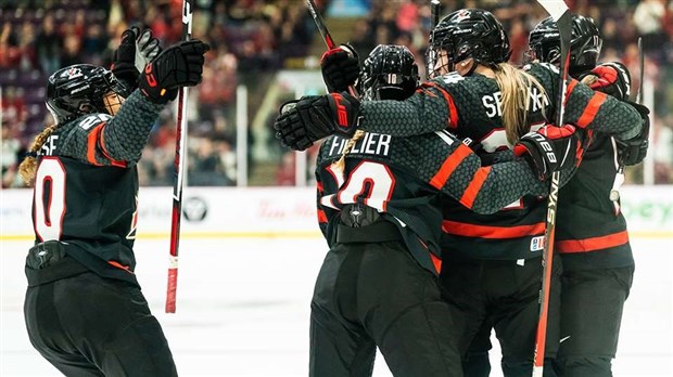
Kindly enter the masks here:
<path id="1" fill-rule="evenodd" d="M 417 82 L 408 49 L 379 46 L 364 63 L 360 89 L 366 99 L 404 100 Z M 331 98 L 341 101 L 339 94 Z M 276 127 L 299 121 L 313 103 L 283 105 Z M 560 130 L 566 134 L 568 128 Z M 541 140 L 554 151 L 574 151 L 577 142 L 574 135 Z M 521 141 L 532 153 L 537 142 L 533 135 Z M 569 157 L 563 164 L 558 155 L 558 167 L 572 167 L 574 153 Z M 456 349 L 461 314 L 442 300 L 436 280 L 439 194 L 493 212 L 522 194 L 546 193 L 548 184 L 537 177 L 556 169 L 551 165 L 536 173 L 522 160 L 482 168 L 479 157 L 445 131 L 415 138 L 358 132 L 351 140 L 325 141 L 316 179 L 318 219 L 330 251 L 312 300 L 309 375 L 369 376 L 379 347 L 396 376 L 461 376 Z"/>

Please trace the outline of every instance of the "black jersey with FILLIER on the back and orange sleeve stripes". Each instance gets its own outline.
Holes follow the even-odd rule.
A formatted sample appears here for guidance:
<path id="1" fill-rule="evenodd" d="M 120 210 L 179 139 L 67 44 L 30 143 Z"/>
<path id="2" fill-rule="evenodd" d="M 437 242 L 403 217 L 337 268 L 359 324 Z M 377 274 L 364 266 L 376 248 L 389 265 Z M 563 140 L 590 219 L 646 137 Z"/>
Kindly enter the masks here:
<path id="1" fill-rule="evenodd" d="M 317 160 L 318 221 L 328 244 L 334 243 L 341 209 L 366 205 L 397 225 L 412 256 L 433 273 L 441 257 L 440 193 L 473 211 L 493 213 L 523 194 L 548 192 L 522 159 L 481 167 L 479 156 L 447 131 L 415 138 L 365 133 L 342 172 L 332 162 L 346 143 L 327 139 Z"/>

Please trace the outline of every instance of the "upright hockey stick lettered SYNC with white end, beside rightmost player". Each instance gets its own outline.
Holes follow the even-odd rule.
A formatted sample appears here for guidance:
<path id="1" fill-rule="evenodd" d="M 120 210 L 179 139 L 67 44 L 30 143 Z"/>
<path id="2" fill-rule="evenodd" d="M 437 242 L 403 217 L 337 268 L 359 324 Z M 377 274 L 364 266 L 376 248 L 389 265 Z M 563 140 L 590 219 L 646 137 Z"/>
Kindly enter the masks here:
<path id="1" fill-rule="evenodd" d="M 561 44 L 559 66 L 559 93 L 556 99 L 556 125 L 563 126 L 563 101 L 566 99 L 566 81 L 570 65 L 570 39 L 572 16 L 568 5 L 562 0 L 538 0 L 539 4 L 549 13 L 559 29 Z M 551 285 L 551 261 L 554 258 L 554 234 L 556 230 L 556 211 L 559 196 L 559 181 L 561 173 L 551 174 L 551 185 L 547 198 L 547 218 L 545 223 L 545 247 L 542 255 L 543 275 L 539 291 L 539 317 L 535 336 L 535 353 L 533 361 L 533 377 L 542 377 L 545 364 L 545 341 L 547 340 L 547 316 L 549 311 L 549 288 Z"/>

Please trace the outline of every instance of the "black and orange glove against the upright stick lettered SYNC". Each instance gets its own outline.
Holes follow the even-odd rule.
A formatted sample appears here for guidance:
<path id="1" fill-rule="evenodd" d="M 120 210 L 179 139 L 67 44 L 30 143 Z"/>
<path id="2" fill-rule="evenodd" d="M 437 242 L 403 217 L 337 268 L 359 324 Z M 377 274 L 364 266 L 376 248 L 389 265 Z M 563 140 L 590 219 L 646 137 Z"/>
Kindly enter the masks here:
<path id="1" fill-rule="evenodd" d="M 581 141 L 574 126 L 547 125 L 521 136 L 515 145 L 515 156 L 525 158 L 537 178 L 546 181 L 553 172 L 574 165 L 580 148 Z"/>

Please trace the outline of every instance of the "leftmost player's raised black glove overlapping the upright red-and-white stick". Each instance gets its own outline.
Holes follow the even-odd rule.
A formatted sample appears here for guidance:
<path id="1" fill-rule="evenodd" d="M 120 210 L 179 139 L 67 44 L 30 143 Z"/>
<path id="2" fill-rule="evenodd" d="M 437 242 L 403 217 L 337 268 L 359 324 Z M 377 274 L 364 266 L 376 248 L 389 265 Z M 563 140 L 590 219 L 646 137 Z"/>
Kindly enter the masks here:
<path id="1" fill-rule="evenodd" d="M 175 100 L 179 87 L 201 82 L 203 63 L 209 46 L 200 40 L 176 43 L 145 65 L 138 88 L 152 102 L 165 104 Z"/>

